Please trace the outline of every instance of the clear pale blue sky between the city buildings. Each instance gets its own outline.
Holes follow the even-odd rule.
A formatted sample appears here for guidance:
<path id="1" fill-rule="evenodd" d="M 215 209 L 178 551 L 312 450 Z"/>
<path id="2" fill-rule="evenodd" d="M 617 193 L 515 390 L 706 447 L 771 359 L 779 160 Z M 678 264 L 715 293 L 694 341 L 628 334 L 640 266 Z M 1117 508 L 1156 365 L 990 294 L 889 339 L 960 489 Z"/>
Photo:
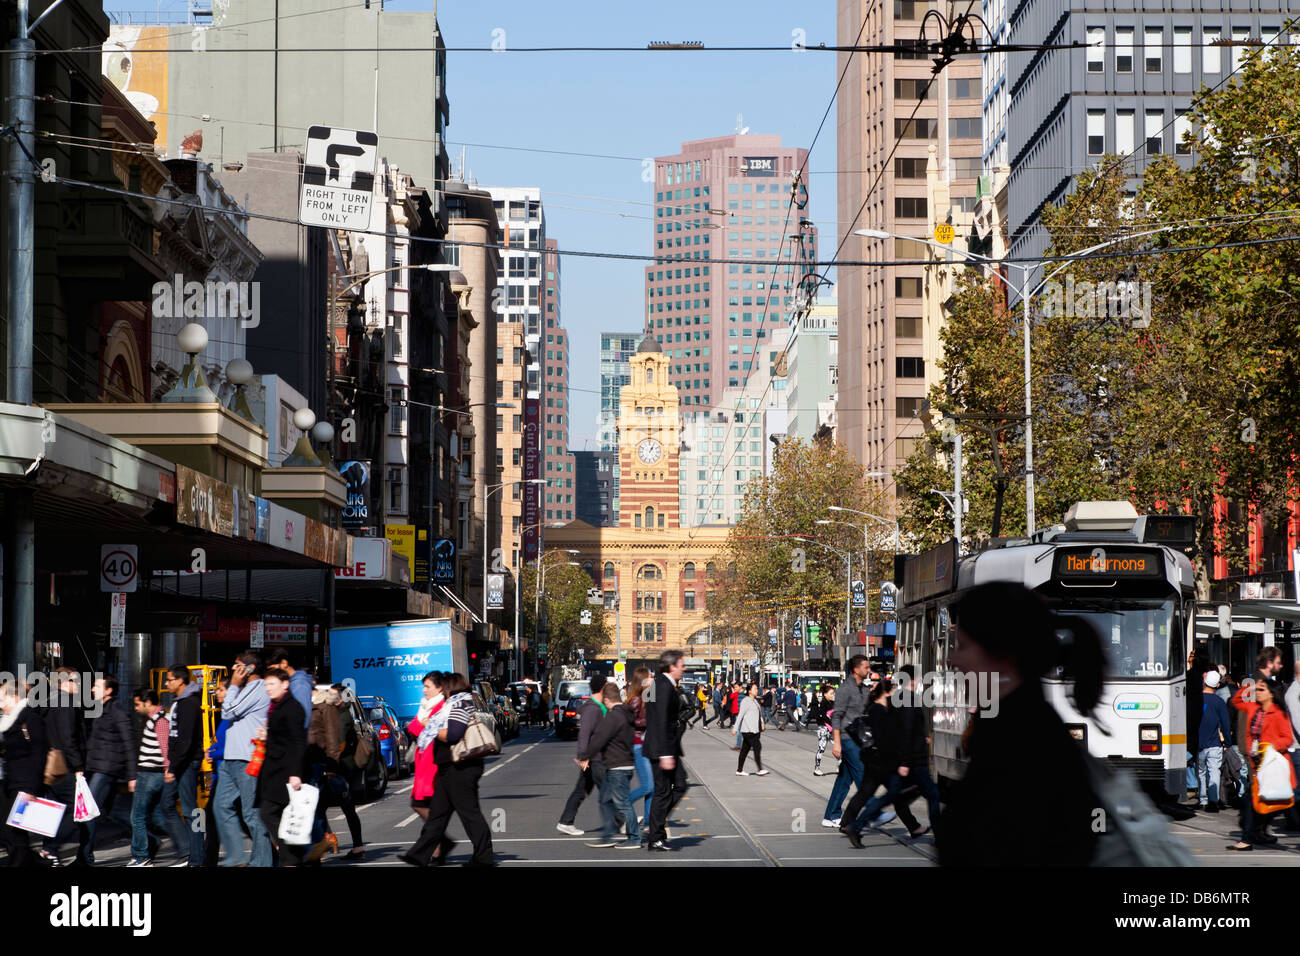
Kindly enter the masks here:
<path id="1" fill-rule="evenodd" d="M 321 0 L 325 3 L 326 0 Z M 107 0 L 105 9 L 142 9 L 148 0 Z M 183 10 L 183 0 L 164 0 Z M 428 10 L 432 0 L 389 0 L 387 9 Z M 810 46 L 835 43 L 835 5 L 775 0 L 445 0 L 438 21 L 450 52 L 447 87 L 454 165 L 485 186 L 538 186 L 547 233 L 560 248 L 650 254 L 654 199 L 641 159 L 673 153 L 681 142 L 734 131 L 780 134 L 807 147 L 837 78 L 835 53 L 512 53 L 511 47 L 642 47 L 651 40 L 708 46 L 781 46 L 802 30 Z M 503 31 L 503 33 L 494 33 Z M 532 150 L 601 153 L 594 159 Z M 811 219 L 828 254 L 835 233 L 835 113 L 812 156 Z M 569 444 L 597 447 L 599 333 L 644 326 L 644 264 L 562 260 L 560 320 L 569 332 Z"/>

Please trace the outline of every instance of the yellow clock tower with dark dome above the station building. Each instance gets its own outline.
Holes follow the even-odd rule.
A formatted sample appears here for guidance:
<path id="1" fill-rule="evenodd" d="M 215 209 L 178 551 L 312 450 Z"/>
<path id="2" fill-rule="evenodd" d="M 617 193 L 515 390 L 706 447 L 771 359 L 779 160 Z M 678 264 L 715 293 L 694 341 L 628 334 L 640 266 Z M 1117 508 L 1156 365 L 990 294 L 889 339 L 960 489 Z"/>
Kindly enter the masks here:
<path id="1" fill-rule="evenodd" d="M 668 381 L 668 358 L 650 336 L 630 365 L 632 381 L 619 398 L 619 527 L 676 531 L 677 388 Z"/>

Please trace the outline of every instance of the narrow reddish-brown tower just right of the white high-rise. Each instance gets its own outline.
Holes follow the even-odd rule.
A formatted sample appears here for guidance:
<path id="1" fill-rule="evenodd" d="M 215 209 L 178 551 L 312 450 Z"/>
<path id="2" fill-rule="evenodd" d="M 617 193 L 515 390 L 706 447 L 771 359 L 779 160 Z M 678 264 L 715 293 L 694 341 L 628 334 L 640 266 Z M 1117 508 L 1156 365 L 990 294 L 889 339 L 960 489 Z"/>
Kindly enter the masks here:
<path id="1" fill-rule="evenodd" d="M 545 520 L 564 524 L 576 518 L 577 489 L 575 488 L 573 454 L 568 450 L 569 394 L 568 394 L 568 333 L 560 324 L 560 258 L 555 239 L 546 239 L 543 256 L 542 302 L 545 303 L 546 343 L 542 362 L 546 381 L 546 407 L 543 425 L 542 477 L 546 479 Z M 541 362 L 541 355 L 537 356 Z"/>

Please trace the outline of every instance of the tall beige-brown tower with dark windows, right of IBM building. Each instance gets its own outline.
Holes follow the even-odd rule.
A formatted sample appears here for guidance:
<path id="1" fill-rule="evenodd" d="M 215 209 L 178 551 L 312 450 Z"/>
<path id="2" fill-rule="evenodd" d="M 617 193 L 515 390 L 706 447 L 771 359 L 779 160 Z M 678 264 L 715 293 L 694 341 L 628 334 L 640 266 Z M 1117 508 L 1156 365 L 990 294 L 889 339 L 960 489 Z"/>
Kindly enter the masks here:
<path id="1" fill-rule="evenodd" d="M 836 7 L 841 44 L 915 40 L 932 9 L 919 0 L 837 0 Z M 954 0 L 944 12 L 961 14 L 965 9 L 966 4 Z M 928 53 L 900 49 L 842 52 L 838 69 L 844 83 L 836 100 L 837 166 L 855 170 L 840 178 L 840 258 L 922 260 L 924 246 L 893 237 L 927 234 L 926 160 L 931 143 L 939 147 L 944 178 L 953 183 L 952 202 L 962 208 L 975 204 L 983 142 L 980 64 L 958 57 L 936 77 Z M 850 234 L 858 229 L 884 232 L 890 238 Z M 868 471 L 894 471 L 920 440 L 920 423 L 901 419 L 897 402 L 923 398 L 926 390 L 923 269 L 918 264 L 840 271 L 838 438 Z"/>

